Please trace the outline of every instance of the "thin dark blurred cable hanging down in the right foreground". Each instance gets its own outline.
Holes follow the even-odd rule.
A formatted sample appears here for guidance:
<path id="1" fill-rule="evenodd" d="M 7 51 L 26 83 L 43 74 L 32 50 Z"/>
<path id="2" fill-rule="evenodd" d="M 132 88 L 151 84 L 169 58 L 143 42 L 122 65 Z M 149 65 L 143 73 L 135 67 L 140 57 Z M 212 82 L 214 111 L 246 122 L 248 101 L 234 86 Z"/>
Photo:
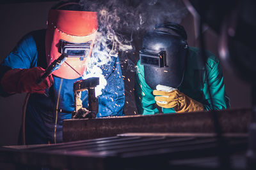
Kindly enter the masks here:
<path id="1" fill-rule="evenodd" d="M 205 46 L 204 46 L 204 34 L 203 34 L 203 26 L 202 26 L 202 22 L 203 22 L 203 18 L 200 17 L 200 22 L 199 22 L 199 37 L 200 37 L 200 53 L 201 53 L 201 57 L 204 61 L 205 67 L 206 67 L 206 63 L 207 63 L 207 55 L 205 53 Z M 205 69 L 205 71 L 207 71 L 207 69 Z M 207 91 L 209 93 L 209 97 L 210 97 L 210 103 L 213 104 L 212 101 L 212 94 L 211 94 L 211 89 L 209 86 L 209 78 L 207 76 L 208 74 L 205 73 L 205 80 L 207 83 Z M 223 132 L 221 129 L 221 125 L 219 122 L 219 117 L 218 117 L 218 113 L 216 111 L 216 109 L 212 106 L 212 111 L 211 111 L 211 115 L 212 115 L 212 120 L 214 123 L 214 130 L 216 132 L 216 139 L 217 139 L 217 146 L 218 146 L 218 159 L 220 161 L 220 168 L 221 169 L 230 169 L 230 154 L 228 153 L 228 145 L 227 145 L 227 141 L 225 141 L 225 139 L 223 138 Z"/>

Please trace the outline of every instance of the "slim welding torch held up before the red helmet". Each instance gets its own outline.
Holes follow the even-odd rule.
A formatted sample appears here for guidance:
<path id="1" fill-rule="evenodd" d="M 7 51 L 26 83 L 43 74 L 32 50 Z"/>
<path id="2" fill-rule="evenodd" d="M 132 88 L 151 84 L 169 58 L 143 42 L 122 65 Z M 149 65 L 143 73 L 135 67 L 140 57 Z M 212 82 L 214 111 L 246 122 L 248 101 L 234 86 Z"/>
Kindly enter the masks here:
<path id="1" fill-rule="evenodd" d="M 45 78 L 47 78 L 47 76 L 49 76 L 53 71 L 55 71 L 56 69 L 59 69 L 61 64 L 63 64 L 63 62 L 65 62 L 65 60 L 67 60 L 67 53 L 61 53 L 60 57 L 58 57 L 58 59 L 54 60 L 50 66 L 47 67 L 47 69 L 45 69 L 45 73 L 38 78 L 38 80 L 36 80 L 36 84 L 40 84 L 42 83 L 42 81 L 45 80 Z"/>

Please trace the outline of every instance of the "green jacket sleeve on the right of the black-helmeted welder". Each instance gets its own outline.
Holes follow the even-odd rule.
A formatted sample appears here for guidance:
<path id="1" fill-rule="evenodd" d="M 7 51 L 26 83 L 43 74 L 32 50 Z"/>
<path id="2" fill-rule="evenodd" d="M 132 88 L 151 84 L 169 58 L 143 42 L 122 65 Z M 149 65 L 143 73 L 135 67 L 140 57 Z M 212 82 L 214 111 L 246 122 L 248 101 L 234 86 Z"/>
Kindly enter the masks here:
<path id="1" fill-rule="evenodd" d="M 208 82 L 206 80 L 208 80 Z M 204 92 L 205 101 L 203 104 L 205 110 L 230 108 L 229 98 L 225 93 L 225 84 L 220 61 L 218 59 L 209 58 L 207 61 Z M 212 97 L 212 99 L 210 97 Z"/>

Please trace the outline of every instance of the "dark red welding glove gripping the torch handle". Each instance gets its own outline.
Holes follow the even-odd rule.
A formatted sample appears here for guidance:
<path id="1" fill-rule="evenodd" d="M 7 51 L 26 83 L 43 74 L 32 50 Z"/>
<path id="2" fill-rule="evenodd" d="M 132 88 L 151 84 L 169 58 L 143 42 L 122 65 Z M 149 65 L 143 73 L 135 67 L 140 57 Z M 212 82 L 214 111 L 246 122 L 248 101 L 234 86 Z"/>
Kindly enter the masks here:
<path id="1" fill-rule="evenodd" d="M 22 92 L 44 94 L 45 89 L 51 87 L 53 78 L 52 75 L 50 75 L 45 78 L 42 83 L 37 85 L 36 80 L 38 80 L 42 74 L 44 74 L 42 67 L 11 69 L 4 74 L 1 85 L 9 94 Z"/>

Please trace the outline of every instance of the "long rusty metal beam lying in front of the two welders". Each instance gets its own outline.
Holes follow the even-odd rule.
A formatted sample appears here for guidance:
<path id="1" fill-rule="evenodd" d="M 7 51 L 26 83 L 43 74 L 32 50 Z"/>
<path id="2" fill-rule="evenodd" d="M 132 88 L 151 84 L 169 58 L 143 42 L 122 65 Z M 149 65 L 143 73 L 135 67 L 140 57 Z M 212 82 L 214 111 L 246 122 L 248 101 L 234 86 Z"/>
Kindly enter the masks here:
<path id="1" fill-rule="evenodd" d="M 252 111 L 216 111 L 224 133 L 246 133 Z M 186 132 L 212 133 L 211 112 L 134 115 L 63 121 L 63 141 L 104 138 L 128 132 Z"/>

